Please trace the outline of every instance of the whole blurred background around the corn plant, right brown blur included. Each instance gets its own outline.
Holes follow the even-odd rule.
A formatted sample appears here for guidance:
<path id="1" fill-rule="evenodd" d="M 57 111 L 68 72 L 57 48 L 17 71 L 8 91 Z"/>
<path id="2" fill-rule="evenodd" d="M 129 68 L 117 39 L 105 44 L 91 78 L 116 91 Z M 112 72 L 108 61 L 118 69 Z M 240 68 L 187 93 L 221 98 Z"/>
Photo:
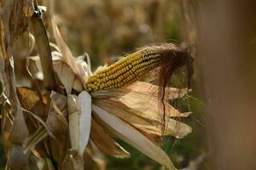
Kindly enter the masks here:
<path id="1" fill-rule="evenodd" d="M 19 13 L 19 8 L 14 6 L 19 4 L 17 2 L 0 0 L 3 23 L 8 22 L 6 17 L 15 15 L 10 14 L 14 8 L 16 11 L 12 13 Z M 192 91 L 172 100 L 172 105 L 181 113 L 193 112 L 188 117 L 177 118 L 193 130 L 183 139 L 165 136 L 160 139 L 161 148 L 177 169 L 256 167 L 253 132 L 256 120 L 256 4 L 253 1 L 55 0 L 54 5 L 47 0 L 20 2 L 37 2 L 38 7 L 46 7 L 45 11 L 41 7 L 40 10 L 44 11 L 43 22 L 49 42 L 56 41 L 55 30 L 51 28 L 54 15 L 55 25 L 73 56 L 90 56 L 92 71 L 99 65 L 111 65 L 126 54 L 155 44 L 168 42 L 189 49 L 195 59 L 195 74 L 189 83 Z M 29 32 L 36 31 L 30 21 L 20 20 L 19 14 L 16 17 L 11 18 L 9 24 L 10 27 L 16 25 L 14 37 L 10 38 L 16 84 L 43 89 L 44 82 L 39 80 L 35 84 L 27 72 L 28 53 L 36 56 L 39 51 L 30 48 Z M 188 88 L 188 72 L 184 68 L 177 69 L 168 85 Z M 0 94 L 2 92 L 1 82 Z M 0 105 L 0 112 L 2 107 Z M 91 169 L 101 170 L 165 169 L 131 144 L 117 141 L 130 152 L 130 158 L 114 158 L 99 151 L 98 161 L 88 158 L 90 161 L 84 163 Z M 0 170 L 5 169 L 7 163 L 2 143 L 3 138 L 0 138 Z"/>

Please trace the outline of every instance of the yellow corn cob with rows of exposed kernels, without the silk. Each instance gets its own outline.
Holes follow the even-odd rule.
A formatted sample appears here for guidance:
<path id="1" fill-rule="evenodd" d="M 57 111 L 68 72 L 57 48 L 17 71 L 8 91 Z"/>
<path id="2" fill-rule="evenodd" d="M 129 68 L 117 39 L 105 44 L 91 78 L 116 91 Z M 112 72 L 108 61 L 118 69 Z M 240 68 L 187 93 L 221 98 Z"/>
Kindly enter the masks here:
<path id="1" fill-rule="evenodd" d="M 89 77 L 86 88 L 89 92 L 108 88 L 123 88 L 141 79 L 148 71 L 160 65 L 162 47 L 143 48 L 120 59 L 113 65 Z"/>

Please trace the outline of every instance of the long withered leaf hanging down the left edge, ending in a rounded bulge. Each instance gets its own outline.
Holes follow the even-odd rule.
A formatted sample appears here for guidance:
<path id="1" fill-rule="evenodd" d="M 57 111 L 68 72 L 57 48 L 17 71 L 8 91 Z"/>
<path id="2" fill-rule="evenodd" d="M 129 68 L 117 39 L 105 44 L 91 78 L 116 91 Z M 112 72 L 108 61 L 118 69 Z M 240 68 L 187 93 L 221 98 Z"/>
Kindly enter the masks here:
<path id="1" fill-rule="evenodd" d="M 20 6 L 20 3 L 23 3 L 22 6 Z M 19 10 L 15 10 L 15 8 Z M 12 142 L 13 144 L 22 144 L 24 139 L 26 139 L 28 132 L 24 116 L 20 107 L 20 101 L 17 98 L 15 90 L 16 82 L 14 60 L 11 55 L 11 46 L 13 45 L 13 40 L 15 39 L 15 37 L 18 37 L 20 33 L 26 29 L 27 20 L 29 20 L 31 17 L 31 9 L 32 8 L 30 4 L 28 4 L 28 2 L 16 1 L 14 7 L 12 8 L 12 14 L 7 17 L 15 20 L 20 19 L 19 21 L 21 22 L 14 23 L 13 20 L 10 20 L 9 27 L 7 27 L 8 23 L 5 23 L 7 26 L 3 26 L 3 20 L 2 17 L 0 17 L 0 77 L 3 81 L 4 86 L 3 94 L 6 97 L 6 99 L 9 100 L 8 105 L 12 106 L 12 114 L 15 116 L 9 135 L 9 141 Z M 9 35 L 6 35 L 6 32 L 8 31 L 4 30 L 4 27 L 10 28 L 9 33 L 11 37 L 10 39 L 12 40 L 11 45 L 9 45 L 9 42 L 7 41 L 7 39 L 9 39 Z"/>

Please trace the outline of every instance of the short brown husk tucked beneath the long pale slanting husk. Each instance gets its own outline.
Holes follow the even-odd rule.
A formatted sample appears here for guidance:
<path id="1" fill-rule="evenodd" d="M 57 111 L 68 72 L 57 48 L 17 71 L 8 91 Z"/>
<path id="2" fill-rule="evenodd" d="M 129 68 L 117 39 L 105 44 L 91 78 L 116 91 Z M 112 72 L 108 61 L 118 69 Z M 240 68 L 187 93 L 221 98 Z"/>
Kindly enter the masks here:
<path id="1" fill-rule="evenodd" d="M 90 138 L 100 150 L 109 156 L 118 158 L 130 157 L 130 153 L 116 143 L 114 139 L 106 131 L 104 131 L 103 127 L 94 119 L 91 119 Z"/>

